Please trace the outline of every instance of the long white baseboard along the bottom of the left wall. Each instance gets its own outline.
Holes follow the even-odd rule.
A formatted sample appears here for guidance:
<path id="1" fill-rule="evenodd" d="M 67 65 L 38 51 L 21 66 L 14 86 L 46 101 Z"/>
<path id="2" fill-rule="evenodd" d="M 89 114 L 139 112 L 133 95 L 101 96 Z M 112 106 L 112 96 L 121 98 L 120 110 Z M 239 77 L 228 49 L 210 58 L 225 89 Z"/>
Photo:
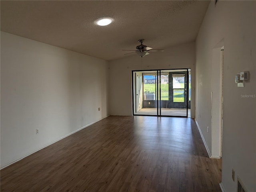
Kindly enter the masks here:
<path id="1" fill-rule="evenodd" d="M 110 115 L 108 115 L 108 116 L 110 116 Z M 40 151 L 41 149 L 44 149 L 45 147 L 48 147 L 49 145 L 52 145 L 53 143 L 56 143 L 57 141 L 60 141 L 61 139 L 64 139 L 65 137 L 68 137 L 68 136 L 70 136 L 70 135 L 72 135 L 72 134 L 74 134 L 74 133 L 76 133 L 76 132 L 78 132 L 78 131 L 80 131 L 80 130 L 82 130 L 82 129 L 84 129 L 84 128 L 86 128 L 86 127 L 88 127 L 88 126 L 90 126 L 90 125 L 92 125 L 94 123 L 96 123 L 96 122 L 98 122 L 98 121 L 103 120 L 103 119 L 107 118 L 108 116 L 106 116 L 104 118 L 100 118 L 97 121 L 94 121 L 94 122 L 92 122 L 92 123 L 90 123 L 88 125 L 85 125 L 84 127 L 81 127 L 79 129 L 77 129 L 76 131 L 72 131 L 71 133 L 68 133 L 67 135 L 64 135 L 63 137 L 60 137 L 60 138 L 58 138 L 58 139 L 56 139 L 56 140 L 54 140 L 54 141 L 52 141 L 50 143 L 47 143 L 46 145 L 43 145 L 43 147 L 40 147 L 39 149 L 36 149 L 35 151 L 26 154 L 24 157 L 20 157 L 18 159 L 14 159 L 13 161 L 10 161 L 10 162 L 6 163 L 5 165 L 3 165 L 3 167 L 1 167 L 0 170 L 5 168 L 5 167 L 8 167 L 8 166 L 10 166 L 10 165 L 12 165 L 12 164 L 14 164 L 16 162 L 18 162 L 18 161 L 20 161 L 22 159 L 24 159 L 25 157 L 28 157 L 29 155 L 32 155 L 33 153 L 36 153 L 37 151 Z"/>

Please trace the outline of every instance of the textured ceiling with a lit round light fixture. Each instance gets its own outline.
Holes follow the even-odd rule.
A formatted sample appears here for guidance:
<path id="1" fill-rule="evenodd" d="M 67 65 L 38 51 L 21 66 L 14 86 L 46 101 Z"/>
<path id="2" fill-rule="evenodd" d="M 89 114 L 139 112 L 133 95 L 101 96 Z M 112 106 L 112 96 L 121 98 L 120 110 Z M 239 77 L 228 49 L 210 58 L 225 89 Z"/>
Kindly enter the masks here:
<path id="1" fill-rule="evenodd" d="M 194 41 L 209 1 L 4 1 L 1 31 L 78 53 L 128 57 L 138 39 L 154 49 Z M 98 26 L 94 21 L 111 17 Z"/>

